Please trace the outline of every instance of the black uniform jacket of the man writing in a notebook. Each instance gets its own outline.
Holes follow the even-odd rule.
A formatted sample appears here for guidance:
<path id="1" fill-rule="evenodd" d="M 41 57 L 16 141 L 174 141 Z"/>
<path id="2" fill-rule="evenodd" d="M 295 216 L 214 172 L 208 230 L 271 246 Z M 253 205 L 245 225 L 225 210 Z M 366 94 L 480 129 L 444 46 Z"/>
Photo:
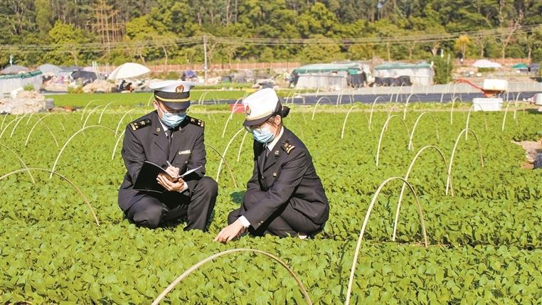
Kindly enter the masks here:
<path id="1" fill-rule="evenodd" d="M 124 181 L 119 189 L 119 206 L 128 210 L 137 201 L 139 191 L 133 189 L 137 174 L 144 161 L 167 167 L 166 160 L 178 167 L 180 173 L 201 166 L 184 178 L 191 195 L 197 181 L 205 174 L 206 151 L 203 144 L 203 121 L 186 117 L 171 138 L 171 148 L 160 124 L 156 111 L 136 119 L 126 127 L 122 143 L 122 158 L 127 168 Z M 168 153 L 169 152 L 169 153 Z"/>

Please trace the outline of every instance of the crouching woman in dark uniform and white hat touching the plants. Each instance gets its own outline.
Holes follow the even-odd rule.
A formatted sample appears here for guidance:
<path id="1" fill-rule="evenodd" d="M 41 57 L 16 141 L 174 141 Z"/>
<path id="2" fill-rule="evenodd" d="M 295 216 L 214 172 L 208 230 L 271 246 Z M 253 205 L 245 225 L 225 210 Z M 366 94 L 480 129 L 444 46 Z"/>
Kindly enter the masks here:
<path id="1" fill-rule="evenodd" d="M 282 126 L 289 109 L 272 89 L 243 100 L 245 127 L 253 133 L 254 171 L 243 205 L 228 215 L 228 227 L 215 240 L 251 235 L 307 237 L 324 228 L 329 203 L 303 142 Z"/>

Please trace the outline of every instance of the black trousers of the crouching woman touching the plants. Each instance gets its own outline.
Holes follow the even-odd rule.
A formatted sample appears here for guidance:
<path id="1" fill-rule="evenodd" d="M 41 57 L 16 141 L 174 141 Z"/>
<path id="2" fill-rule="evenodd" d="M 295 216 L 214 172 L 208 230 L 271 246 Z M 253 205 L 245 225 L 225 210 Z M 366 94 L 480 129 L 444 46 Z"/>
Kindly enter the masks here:
<path id="1" fill-rule="evenodd" d="M 245 196 L 245 199 L 250 199 L 246 199 L 241 208 L 233 210 L 228 215 L 228 225 L 234 223 L 235 220 L 243 215 L 249 208 L 257 208 L 257 204 L 262 200 L 266 193 L 267 192 L 265 191 L 251 191 L 249 196 Z M 270 218 L 267 218 L 257 230 L 249 227 L 248 230 L 250 234 L 257 236 L 270 234 L 287 237 L 300 234 L 314 235 L 322 230 L 324 225 L 313 223 L 310 218 L 293 207 L 296 200 L 301 199 L 291 198 L 285 205 L 282 205 L 279 210 L 275 211 Z"/>

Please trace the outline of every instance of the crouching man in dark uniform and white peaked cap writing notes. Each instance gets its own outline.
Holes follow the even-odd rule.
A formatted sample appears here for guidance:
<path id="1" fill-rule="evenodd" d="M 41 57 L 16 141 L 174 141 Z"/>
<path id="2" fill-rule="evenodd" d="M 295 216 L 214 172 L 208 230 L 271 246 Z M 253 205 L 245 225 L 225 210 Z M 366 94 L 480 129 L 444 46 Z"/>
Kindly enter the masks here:
<path id="1" fill-rule="evenodd" d="M 185 230 L 206 230 L 216 203 L 218 186 L 204 176 L 206 151 L 203 121 L 186 115 L 190 106 L 191 82 L 166 80 L 151 86 L 154 108 L 128 124 L 122 144 L 127 168 L 119 189 L 119 206 L 137 226 L 157 228 L 186 221 Z M 137 191 L 134 183 L 144 161 L 165 168 L 171 176 L 198 168 L 178 181 L 160 175 L 156 181 L 164 193 Z M 200 167 L 201 166 L 201 167 Z"/>

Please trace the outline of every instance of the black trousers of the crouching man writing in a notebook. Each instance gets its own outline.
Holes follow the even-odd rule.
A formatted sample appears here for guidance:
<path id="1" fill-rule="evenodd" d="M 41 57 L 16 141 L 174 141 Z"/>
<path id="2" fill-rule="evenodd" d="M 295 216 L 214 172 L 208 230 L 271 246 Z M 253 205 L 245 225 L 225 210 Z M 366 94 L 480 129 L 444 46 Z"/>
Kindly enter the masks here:
<path id="1" fill-rule="evenodd" d="M 184 230 L 207 229 L 218 196 L 213 178 L 203 177 L 194 186 L 191 196 L 185 193 L 139 192 L 138 200 L 124 215 L 138 227 L 158 228 L 168 223 L 186 222 Z"/>

